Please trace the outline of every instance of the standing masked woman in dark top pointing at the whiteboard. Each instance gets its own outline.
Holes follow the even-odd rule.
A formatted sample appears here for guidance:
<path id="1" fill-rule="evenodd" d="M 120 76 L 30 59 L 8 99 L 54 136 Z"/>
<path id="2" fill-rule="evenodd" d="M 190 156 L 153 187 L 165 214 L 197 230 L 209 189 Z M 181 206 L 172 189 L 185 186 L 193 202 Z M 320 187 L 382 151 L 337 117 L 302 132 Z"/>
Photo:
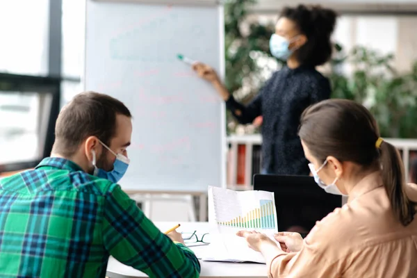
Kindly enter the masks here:
<path id="1" fill-rule="evenodd" d="M 309 174 L 297 129 L 305 108 L 330 97 L 329 81 L 316 66 L 331 58 L 330 36 L 335 24 L 333 10 L 302 5 L 284 8 L 270 38 L 270 51 L 286 60 L 286 66 L 272 75 L 247 106 L 234 99 L 213 68 L 203 63 L 193 65 L 200 77 L 213 84 L 240 123 L 263 116 L 263 173 Z"/>

